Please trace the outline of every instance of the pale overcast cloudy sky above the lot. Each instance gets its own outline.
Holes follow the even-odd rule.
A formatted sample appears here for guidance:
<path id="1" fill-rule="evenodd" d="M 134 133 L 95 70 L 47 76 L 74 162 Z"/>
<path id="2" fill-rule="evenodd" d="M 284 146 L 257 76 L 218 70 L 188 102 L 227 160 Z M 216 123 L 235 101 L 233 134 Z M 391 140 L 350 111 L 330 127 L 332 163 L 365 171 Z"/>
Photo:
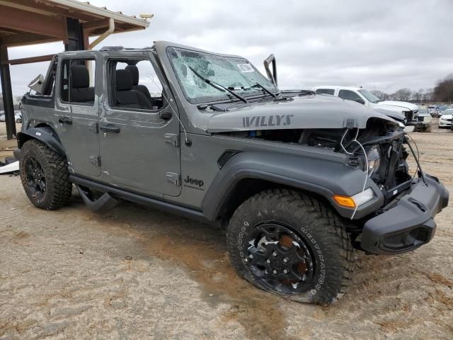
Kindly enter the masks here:
<path id="1" fill-rule="evenodd" d="M 335 84 L 386 92 L 416 90 L 433 87 L 453 72 L 453 0 L 90 3 L 128 15 L 154 13 L 147 30 L 111 35 L 101 46 L 144 47 L 169 40 L 242 55 L 262 70 L 263 60 L 273 53 L 282 89 Z M 47 55 L 63 48 L 62 42 L 15 47 L 9 57 Z M 13 93 L 23 94 L 47 65 L 11 67 Z"/>

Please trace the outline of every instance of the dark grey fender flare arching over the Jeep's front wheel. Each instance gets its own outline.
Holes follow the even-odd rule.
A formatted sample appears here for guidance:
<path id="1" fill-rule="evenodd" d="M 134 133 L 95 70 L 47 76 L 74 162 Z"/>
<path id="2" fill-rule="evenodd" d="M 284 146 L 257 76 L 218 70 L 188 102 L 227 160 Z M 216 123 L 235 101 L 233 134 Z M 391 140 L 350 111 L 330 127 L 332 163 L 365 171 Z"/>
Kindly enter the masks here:
<path id="1" fill-rule="evenodd" d="M 352 169 L 331 159 L 307 158 L 277 152 L 241 152 L 231 157 L 217 173 L 202 200 L 202 212 L 208 220 L 215 220 L 228 204 L 236 185 L 244 179 L 261 179 L 282 186 L 316 193 L 326 198 L 343 217 L 352 217 L 353 210 L 337 205 L 332 196 L 353 196 L 362 191 L 364 172 Z M 355 219 L 375 211 L 384 203 L 377 185 L 367 179 L 376 197 L 360 207 Z"/>

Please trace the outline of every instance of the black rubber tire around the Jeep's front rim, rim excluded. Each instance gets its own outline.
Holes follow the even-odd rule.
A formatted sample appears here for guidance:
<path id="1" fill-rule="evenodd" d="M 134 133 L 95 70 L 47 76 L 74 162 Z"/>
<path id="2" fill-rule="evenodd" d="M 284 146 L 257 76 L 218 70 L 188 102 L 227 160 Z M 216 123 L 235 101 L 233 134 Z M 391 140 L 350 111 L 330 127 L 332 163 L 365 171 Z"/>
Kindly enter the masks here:
<path id="1" fill-rule="evenodd" d="M 260 283 L 253 273 L 248 259 L 248 235 L 257 225 L 269 221 L 292 228 L 313 256 L 314 274 L 302 292 L 281 294 Z M 346 292 L 352 278 L 355 257 L 340 218 L 327 204 L 296 191 L 263 191 L 243 202 L 231 217 L 226 242 L 239 276 L 290 300 L 331 304 Z"/>

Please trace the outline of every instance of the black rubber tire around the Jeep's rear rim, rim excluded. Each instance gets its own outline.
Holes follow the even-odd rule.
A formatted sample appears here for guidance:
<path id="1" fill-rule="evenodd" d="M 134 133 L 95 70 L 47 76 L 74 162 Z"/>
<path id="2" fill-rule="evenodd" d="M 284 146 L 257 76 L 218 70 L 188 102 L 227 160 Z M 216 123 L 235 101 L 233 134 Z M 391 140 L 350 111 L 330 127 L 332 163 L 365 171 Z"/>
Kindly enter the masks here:
<path id="1" fill-rule="evenodd" d="M 25 169 L 27 159 L 33 158 L 40 164 L 45 176 L 45 191 L 41 195 L 33 193 L 28 185 Z M 54 210 L 67 205 L 72 192 L 72 183 L 69 182 L 69 171 L 66 157 L 58 154 L 38 140 L 28 140 L 21 148 L 21 162 L 19 172 L 25 193 L 31 203 L 38 208 Z"/>

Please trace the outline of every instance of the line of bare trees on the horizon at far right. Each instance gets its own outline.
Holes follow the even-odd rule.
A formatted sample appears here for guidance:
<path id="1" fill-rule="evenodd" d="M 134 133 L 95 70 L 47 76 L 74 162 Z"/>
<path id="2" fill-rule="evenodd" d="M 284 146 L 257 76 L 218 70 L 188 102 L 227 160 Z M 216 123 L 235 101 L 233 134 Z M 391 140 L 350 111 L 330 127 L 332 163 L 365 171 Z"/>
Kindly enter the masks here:
<path id="1" fill-rule="evenodd" d="M 444 79 L 436 81 L 434 89 L 419 89 L 413 91 L 408 88 L 399 89 L 393 94 L 386 94 L 383 91 L 372 91 L 374 96 L 382 101 L 413 101 L 416 103 L 432 102 L 453 102 L 453 73 L 447 75 Z"/>

